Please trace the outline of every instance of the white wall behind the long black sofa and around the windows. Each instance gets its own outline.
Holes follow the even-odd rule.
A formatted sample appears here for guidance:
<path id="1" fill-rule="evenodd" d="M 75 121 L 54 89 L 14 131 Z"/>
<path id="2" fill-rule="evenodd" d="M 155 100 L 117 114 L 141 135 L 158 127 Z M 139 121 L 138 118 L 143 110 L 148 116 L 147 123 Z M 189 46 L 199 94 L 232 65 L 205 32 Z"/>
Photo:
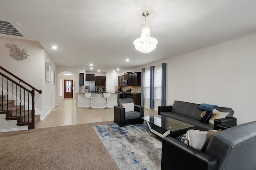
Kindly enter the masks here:
<path id="1" fill-rule="evenodd" d="M 256 34 L 125 72 L 161 63 L 167 63 L 166 105 L 174 100 L 216 104 L 231 107 L 238 125 L 256 120 Z"/>

